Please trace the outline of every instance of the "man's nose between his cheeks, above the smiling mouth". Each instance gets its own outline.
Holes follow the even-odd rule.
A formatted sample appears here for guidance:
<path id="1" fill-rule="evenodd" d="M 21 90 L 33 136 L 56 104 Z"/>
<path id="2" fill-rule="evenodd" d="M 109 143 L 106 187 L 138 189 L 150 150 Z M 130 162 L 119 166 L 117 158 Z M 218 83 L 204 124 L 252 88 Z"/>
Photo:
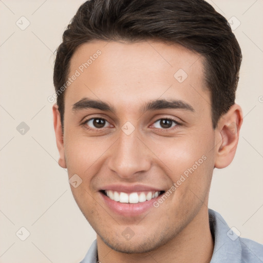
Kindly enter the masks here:
<path id="1" fill-rule="evenodd" d="M 151 151 L 138 137 L 136 130 L 126 135 L 120 131 L 120 138 L 112 145 L 108 168 L 124 179 L 132 179 L 151 167 Z"/>

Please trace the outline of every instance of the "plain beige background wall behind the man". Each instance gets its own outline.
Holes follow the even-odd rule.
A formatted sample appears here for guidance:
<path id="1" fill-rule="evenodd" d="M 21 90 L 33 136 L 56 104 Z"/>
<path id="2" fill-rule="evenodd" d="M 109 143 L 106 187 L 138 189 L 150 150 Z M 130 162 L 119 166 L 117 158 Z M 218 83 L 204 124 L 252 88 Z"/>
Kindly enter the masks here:
<path id="1" fill-rule="evenodd" d="M 53 51 L 82 2 L 0 1 L 0 262 L 79 262 L 96 238 L 57 163 L 47 100 Z M 236 101 L 245 116 L 233 163 L 214 172 L 209 207 L 242 237 L 263 243 L 263 1 L 208 2 L 241 23 L 234 30 L 243 53 Z M 25 30 L 21 16 L 30 22 Z M 16 129 L 21 122 L 30 127 L 24 135 Z M 30 232 L 25 241 L 16 236 L 21 227 Z"/>

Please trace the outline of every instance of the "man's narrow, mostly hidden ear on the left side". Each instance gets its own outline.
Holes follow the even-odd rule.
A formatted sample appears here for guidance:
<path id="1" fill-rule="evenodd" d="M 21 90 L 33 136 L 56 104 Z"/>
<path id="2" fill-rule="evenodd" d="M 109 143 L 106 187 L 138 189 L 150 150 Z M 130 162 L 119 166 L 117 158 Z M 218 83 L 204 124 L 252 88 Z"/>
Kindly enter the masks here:
<path id="1" fill-rule="evenodd" d="M 60 118 L 60 112 L 59 112 L 58 105 L 54 104 L 52 107 L 52 110 L 53 110 L 55 138 L 57 141 L 57 147 L 59 149 L 59 154 L 60 154 L 59 165 L 62 168 L 67 168 L 66 161 L 65 161 L 64 140 L 63 140 L 62 126 L 61 126 L 61 118 Z"/>

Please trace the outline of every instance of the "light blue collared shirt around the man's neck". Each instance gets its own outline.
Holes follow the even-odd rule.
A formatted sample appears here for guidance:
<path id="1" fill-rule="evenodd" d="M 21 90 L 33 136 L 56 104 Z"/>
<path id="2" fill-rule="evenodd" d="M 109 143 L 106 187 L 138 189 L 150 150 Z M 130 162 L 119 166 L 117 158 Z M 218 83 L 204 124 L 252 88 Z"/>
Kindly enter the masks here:
<path id="1" fill-rule="evenodd" d="M 215 241 L 210 263 L 263 263 L 263 245 L 238 237 L 222 216 L 212 209 L 209 209 L 209 222 Z M 95 240 L 80 263 L 97 262 L 98 247 Z"/>

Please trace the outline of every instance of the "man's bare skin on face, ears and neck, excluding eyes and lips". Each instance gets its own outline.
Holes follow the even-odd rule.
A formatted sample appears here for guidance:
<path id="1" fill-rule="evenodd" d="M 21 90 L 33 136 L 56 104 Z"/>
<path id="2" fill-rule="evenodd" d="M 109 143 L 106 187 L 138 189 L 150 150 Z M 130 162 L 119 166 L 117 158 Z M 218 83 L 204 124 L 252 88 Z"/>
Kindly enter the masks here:
<path id="1" fill-rule="evenodd" d="M 208 196 L 214 167 L 228 166 L 235 155 L 242 112 L 234 104 L 213 129 L 210 92 L 205 86 L 203 60 L 180 45 L 156 41 L 137 43 L 92 41 L 82 44 L 70 61 L 69 76 L 90 55 L 102 54 L 66 90 L 64 134 L 53 106 L 59 164 L 69 178 L 82 183 L 71 190 L 82 213 L 97 232 L 98 255 L 108 262 L 210 262 L 214 242 L 209 228 Z M 174 74 L 188 77 L 179 83 Z M 115 113 L 72 105 L 88 97 L 109 103 Z M 185 109 L 140 108 L 157 99 L 182 100 Z M 83 119 L 85 118 L 85 119 Z M 84 120 L 106 119 L 98 128 Z M 161 120 L 173 118 L 163 128 Z M 126 135 L 121 127 L 135 127 Z M 93 130 L 86 127 L 90 125 Z M 144 184 L 167 191 L 202 156 L 206 157 L 158 208 L 139 216 L 112 212 L 99 190 L 107 184 Z M 134 236 L 126 240 L 129 227 Z"/>

